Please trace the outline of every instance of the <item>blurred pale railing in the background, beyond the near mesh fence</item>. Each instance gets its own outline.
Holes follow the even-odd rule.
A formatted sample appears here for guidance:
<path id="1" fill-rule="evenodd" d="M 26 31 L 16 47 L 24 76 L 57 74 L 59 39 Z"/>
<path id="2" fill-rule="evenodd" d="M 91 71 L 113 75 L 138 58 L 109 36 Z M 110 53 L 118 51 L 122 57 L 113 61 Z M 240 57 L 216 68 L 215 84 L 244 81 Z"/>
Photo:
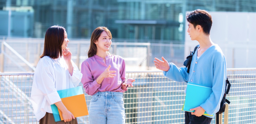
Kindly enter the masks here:
<path id="1" fill-rule="evenodd" d="M 183 65 L 184 44 L 125 42 L 125 40 L 121 42 L 115 40 L 112 42 L 110 53 L 122 56 L 126 61 L 126 66 L 129 67 L 128 69 L 149 70 L 154 66 L 154 58 L 161 58 L 162 56 L 178 66 Z M 34 72 L 33 67 L 36 67 L 40 59 L 39 56 L 43 53 L 44 39 L 0 39 L 0 43 L 2 44 L 1 72 Z M 90 39 L 71 39 L 68 43 L 68 48 L 72 52 L 72 60 L 79 68 L 81 63 L 88 58 L 86 53 L 89 46 Z M 15 50 L 24 59 L 17 57 L 9 48 Z"/>

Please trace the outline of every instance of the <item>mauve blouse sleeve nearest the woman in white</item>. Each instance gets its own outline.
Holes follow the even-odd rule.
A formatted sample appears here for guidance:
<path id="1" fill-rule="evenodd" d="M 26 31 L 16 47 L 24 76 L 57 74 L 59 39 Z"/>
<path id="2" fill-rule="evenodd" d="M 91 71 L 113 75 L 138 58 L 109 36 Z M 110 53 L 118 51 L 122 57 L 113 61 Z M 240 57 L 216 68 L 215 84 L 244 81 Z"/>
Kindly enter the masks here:
<path id="1" fill-rule="evenodd" d="M 81 73 L 83 74 L 81 82 L 83 84 L 85 92 L 88 95 L 95 94 L 101 85 L 98 84 L 96 80 L 93 80 L 90 66 L 86 61 L 84 61 L 81 65 Z"/>

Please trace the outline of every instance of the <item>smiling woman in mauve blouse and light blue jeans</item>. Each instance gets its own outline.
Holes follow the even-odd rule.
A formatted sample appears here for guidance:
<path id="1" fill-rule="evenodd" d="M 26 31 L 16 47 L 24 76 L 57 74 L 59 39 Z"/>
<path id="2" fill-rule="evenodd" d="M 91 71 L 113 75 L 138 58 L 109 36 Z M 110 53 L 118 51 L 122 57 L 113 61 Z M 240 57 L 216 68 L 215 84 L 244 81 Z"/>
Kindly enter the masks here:
<path id="1" fill-rule="evenodd" d="M 125 60 L 109 53 L 112 35 L 106 27 L 92 32 L 88 59 L 81 65 L 82 84 L 92 95 L 90 124 L 125 124 L 123 93 L 134 79 L 126 79 Z"/>

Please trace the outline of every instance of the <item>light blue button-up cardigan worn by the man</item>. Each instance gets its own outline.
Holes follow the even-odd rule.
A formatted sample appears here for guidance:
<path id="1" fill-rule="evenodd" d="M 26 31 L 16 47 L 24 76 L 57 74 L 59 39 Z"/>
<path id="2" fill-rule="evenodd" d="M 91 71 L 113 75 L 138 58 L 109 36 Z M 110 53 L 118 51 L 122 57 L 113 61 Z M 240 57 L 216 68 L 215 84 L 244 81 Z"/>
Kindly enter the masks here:
<path id="1" fill-rule="evenodd" d="M 193 56 L 189 73 L 186 67 L 178 68 L 169 63 L 170 69 L 164 71 L 164 76 L 176 82 L 192 82 L 202 86 L 212 87 L 213 93 L 200 106 L 213 118 L 219 111 L 220 102 L 225 91 L 227 78 L 226 59 L 217 44 L 208 48 L 197 59 L 197 50 Z M 186 89 L 185 89 L 186 93 Z M 191 108 L 192 109 L 192 108 Z"/>

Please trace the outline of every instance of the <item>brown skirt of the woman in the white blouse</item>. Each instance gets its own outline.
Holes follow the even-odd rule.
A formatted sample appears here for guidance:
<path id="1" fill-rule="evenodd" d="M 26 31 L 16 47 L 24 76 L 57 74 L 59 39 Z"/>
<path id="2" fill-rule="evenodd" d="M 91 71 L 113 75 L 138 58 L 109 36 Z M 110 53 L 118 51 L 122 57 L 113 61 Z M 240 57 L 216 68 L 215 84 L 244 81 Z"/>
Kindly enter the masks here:
<path id="1" fill-rule="evenodd" d="M 59 121 L 55 122 L 52 113 L 46 112 L 45 116 L 40 119 L 39 124 L 77 124 L 77 119 L 72 119 L 70 122 Z"/>

